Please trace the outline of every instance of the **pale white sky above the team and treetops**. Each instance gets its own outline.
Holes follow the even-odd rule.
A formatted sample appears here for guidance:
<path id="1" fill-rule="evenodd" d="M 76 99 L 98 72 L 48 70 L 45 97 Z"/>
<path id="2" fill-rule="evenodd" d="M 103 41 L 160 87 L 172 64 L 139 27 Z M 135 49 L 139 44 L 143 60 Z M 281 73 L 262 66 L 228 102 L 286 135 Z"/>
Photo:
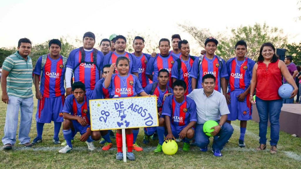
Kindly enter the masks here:
<path id="1" fill-rule="evenodd" d="M 16 47 L 20 38 L 33 45 L 61 36 L 82 38 L 85 32 L 109 38 L 128 32 L 171 38 L 180 34 L 193 41 L 178 23 L 208 28 L 212 34 L 227 32 L 241 25 L 267 23 L 288 35 L 289 43 L 301 41 L 301 16 L 298 0 L 153 0 L 153 1 L 78 1 L 9 0 L 0 4 L 0 48 Z M 228 29 L 227 29 L 228 28 Z M 229 33 L 229 35 L 231 35 Z M 96 38 L 96 42 L 100 42 Z M 73 42 L 71 42 L 73 43 Z"/>

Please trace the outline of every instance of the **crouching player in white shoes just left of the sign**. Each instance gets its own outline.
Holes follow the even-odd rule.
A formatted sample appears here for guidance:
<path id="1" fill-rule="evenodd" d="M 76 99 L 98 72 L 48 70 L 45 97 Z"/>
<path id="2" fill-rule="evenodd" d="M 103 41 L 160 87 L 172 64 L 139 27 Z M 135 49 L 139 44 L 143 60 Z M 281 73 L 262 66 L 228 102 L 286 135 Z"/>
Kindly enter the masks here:
<path id="1" fill-rule="evenodd" d="M 94 150 L 90 128 L 89 100 L 86 97 L 85 84 L 75 82 L 72 85 L 72 94 L 68 95 L 63 107 L 63 134 L 67 146 L 61 149 L 60 153 L 67 153 L 72 150 L 71 139 L 77 132 L 82 136 L 80 141 L 87 143 L 89 150 Z M 74 133 L 74 135 L 73 135 Z"/>

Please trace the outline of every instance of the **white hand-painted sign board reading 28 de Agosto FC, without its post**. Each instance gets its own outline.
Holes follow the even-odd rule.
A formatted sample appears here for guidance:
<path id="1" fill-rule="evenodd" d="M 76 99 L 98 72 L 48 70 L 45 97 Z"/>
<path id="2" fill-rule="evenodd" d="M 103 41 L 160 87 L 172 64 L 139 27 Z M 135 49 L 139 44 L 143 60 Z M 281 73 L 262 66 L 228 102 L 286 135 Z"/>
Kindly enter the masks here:
<path id="1" fill-rule="evenodd" d="M 92 131 L 159 125 L 155 96 L 97 99 L 89 104 Z"/>

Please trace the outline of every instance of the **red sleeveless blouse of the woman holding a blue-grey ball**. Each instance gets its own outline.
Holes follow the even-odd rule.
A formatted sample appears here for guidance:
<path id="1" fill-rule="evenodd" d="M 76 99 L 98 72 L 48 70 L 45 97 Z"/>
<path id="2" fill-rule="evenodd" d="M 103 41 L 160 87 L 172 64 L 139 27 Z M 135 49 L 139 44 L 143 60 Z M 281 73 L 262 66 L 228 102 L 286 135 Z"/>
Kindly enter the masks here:
<path id="1" fill-rule="evenodd" d="M 263 62 L 258 63 L 256 70 L 256 96 L 262 100 L 281 99 L 278 95 L 278 89 L 282 85 L 278 62 L 279 60 L 275 63 L 269 63 L 268 66 Z"/>

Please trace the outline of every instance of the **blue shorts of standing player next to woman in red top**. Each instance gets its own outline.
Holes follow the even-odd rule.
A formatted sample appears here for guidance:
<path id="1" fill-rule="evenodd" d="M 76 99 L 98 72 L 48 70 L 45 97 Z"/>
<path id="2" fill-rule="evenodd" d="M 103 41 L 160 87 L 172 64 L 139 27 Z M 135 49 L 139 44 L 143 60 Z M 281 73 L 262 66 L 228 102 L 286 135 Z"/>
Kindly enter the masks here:
<path id="1" fill-rule="evenodd" d="M 231 103 L 228 105 L 230 114 L 227 120 L 251 120 L 252 119 L 252 104 L 250 103 L 250 94 L 247 94 L 243 102 L 238 101 L 237 96 L 244 93 L 244 90 L 234 90 L 230 93 Z"/>

